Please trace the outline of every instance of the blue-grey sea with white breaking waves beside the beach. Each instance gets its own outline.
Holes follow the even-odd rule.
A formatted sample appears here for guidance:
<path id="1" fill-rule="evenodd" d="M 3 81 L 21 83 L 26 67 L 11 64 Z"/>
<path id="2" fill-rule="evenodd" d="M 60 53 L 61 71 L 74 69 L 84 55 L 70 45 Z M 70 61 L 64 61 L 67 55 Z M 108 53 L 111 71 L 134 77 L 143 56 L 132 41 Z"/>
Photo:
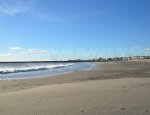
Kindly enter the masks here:
<path id="1" fill-rule="evenodd" d="M 38 78 L 90 70 L 88 62 L 0 62 L 0 80 Z"/>

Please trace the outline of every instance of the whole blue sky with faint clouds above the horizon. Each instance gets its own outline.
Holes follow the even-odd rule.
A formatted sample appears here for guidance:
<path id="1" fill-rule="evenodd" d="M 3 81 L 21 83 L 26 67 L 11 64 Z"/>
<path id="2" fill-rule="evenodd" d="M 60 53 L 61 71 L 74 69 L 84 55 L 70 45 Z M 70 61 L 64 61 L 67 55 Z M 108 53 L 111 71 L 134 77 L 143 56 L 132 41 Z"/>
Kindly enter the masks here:
<path id="1" fill-rule="evenodd" d="M 147 55 L 149 0 L 0 0 L 0 61 Z"/>

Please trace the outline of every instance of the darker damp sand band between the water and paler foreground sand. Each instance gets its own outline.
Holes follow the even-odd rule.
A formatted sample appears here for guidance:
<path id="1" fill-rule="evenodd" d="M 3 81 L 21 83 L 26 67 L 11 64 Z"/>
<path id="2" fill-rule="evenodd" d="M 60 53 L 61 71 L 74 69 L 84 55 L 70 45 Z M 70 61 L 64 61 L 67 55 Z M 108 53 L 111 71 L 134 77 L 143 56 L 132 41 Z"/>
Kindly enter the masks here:
<path id="1" fill-rule="evenodd" d="M 30 79 L 0 80 L 0 93 L 14 92 L 51 84 L 64 84 L 99 79 L 150 77 L 150 62 L 120 61 L 96 62 L 88 71 L 75 71 L 55 76 Z"/>

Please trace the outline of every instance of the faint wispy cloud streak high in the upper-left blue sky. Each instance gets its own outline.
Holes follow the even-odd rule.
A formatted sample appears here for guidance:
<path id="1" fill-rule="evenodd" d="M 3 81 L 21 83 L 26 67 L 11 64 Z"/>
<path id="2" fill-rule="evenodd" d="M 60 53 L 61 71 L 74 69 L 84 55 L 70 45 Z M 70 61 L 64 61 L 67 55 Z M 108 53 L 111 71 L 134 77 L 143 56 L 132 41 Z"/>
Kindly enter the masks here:
<path id="1" fill-rule="evenodd" d="M 36 0 L 25 0 L 25 2 L 17 0 L 12 3 L 0 4 L 0 16 L 16 16 L 18 14 L 27 14 L 29 17 L 34 18 L 38 21 L 44 22 L 55 22 L 55 23 L 66 23 L 72 20 L 80 19 L 84 17 L 82 13 L 62 15 L 53 12 L 43 12 L 42 9 L 37 6 Z"/>

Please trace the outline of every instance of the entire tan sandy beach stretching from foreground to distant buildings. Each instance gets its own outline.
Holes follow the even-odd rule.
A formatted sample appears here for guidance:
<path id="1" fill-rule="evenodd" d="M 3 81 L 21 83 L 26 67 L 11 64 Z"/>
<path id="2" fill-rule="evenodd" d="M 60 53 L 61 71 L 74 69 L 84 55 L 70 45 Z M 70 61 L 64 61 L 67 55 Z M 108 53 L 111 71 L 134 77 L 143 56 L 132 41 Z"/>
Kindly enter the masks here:
<path id="1" fill-rule="evenodd" d="M 0 81 L 0 115 L 150 115 L 150 61 Z"/>

